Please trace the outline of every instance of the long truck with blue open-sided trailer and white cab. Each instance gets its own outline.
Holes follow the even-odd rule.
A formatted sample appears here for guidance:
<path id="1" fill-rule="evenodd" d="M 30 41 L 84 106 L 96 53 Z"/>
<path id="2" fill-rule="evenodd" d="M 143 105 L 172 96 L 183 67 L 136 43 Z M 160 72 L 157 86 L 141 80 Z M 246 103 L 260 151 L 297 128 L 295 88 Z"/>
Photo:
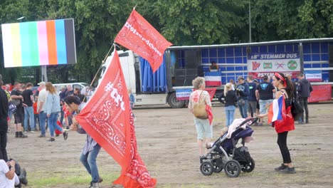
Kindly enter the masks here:
<path id="1" fill-rule="evenodd" d="M 132 51 L 118 51 L 127 88 L 136 105 L 164 105 L 183 108 L 193 89 L 192 80 L 206 78 L 206 88 L 223 93 L 223 85 L 238 76 L 274 72 L 292 75 L 305 73 L 314 85 L 310 102 L 331 100 L 333 85 L 333 38 L 313 38 L 260 43 L 233 43 L 203 46 L 171 46 L 164 53 L 162 66 L 152 73 L 149 63 Z M 102 73 L 112 60 L 107 58 Z M 209 68 L 212 62 L 217 68 Z M 324 91 L 324 92 L 323 92 Z"/>

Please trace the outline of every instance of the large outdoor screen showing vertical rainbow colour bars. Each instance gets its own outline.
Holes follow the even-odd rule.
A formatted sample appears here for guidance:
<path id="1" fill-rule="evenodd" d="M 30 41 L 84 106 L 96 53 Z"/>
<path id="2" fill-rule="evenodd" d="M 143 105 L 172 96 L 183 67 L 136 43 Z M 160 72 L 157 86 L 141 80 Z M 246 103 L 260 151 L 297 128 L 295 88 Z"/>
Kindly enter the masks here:
<path id="1" fill-rule="evenodd" d="M 4 67 L 76 63 L 73 19 L 1 24 Z"/>

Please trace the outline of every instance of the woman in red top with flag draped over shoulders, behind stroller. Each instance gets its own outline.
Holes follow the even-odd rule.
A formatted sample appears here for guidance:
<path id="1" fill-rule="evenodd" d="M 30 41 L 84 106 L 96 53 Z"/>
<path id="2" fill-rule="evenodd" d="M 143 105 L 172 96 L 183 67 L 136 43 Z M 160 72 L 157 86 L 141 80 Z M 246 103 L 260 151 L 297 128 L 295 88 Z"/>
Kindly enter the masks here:
<path id="1" fill-rule="evenodd" d="M 260 114 L 258 117 L 268 116 L 268 122 L 273 122 L 277 132 L 277 145 L 280 147 L 283 163 L 275 171 L 286 174 L 296 173 L 295 167 L 292 165 L 290 152 L 287 147 L 287 135 L 291 130 L 295 130 L 295 122 L 291 113 L 291 99 L 294 97 L 293 85 L 289 78 L 282 73 L 273 75 L 273 85 L 278 89 L 275 94 L 275 100 L 270 105 L 268 113 Z"/>

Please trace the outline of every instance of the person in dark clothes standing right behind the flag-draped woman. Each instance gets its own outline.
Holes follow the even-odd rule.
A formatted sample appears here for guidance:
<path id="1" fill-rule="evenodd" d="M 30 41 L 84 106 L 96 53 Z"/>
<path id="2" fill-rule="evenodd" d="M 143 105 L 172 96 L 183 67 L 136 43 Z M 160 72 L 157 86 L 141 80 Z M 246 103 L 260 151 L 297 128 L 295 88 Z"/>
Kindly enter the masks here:
<path id="1" fill-rule="evenodd" d="M 305 110 L 305 123 L 309 123 L 309 109 L 307 108 L 307 98 L 310 97 L 310 93 L 312 92 L 312 86 L 309 80 L 305 79 L 303 73 L 299 73 L 297 75 L 298 84 L 297 84 L 297 93 L 298 93 L 298 101 L 302 108 Z M 304 123 L 304 113 L 302 113 L 300 120 L 298 120 L 300 124 Z"/>

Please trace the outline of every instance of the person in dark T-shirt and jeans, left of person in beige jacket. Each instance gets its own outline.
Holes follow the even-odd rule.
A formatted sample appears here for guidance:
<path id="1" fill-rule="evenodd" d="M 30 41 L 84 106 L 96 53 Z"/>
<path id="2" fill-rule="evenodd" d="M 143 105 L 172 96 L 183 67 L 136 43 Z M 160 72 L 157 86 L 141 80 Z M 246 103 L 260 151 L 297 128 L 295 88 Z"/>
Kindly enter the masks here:
<path id="1" fill-rule="evenodd" d="M 22 96 L 26 107 L 24 107 L 24 130 L 28 131 L 28 119 L 30 120 L 31 132 L 35 132 L 35 117 L 33 114 L 33 93 L 31 88 L 33 88 L 32 83 L 26 84 L 26 90 L 23 90 Z"/>

